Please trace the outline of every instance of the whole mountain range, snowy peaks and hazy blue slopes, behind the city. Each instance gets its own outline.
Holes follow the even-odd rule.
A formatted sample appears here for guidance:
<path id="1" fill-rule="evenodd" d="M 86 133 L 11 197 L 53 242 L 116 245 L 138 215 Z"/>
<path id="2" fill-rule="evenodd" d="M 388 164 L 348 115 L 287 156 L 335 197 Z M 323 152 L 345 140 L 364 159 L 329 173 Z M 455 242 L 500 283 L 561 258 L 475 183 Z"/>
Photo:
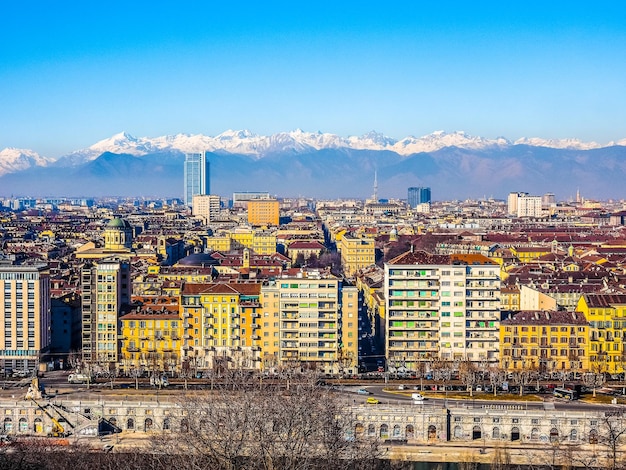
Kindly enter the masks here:
<path id="1" fill-rule="evenodd" d="M 510 191 L 567 199 L 624 197 L 626 139 L 486 139 L 434 132 L 395 140 L 377 132 L 341 137 L 295 130 L 270 136 L 226 131 L 136 138 L 122 132 L 53 159 L 0 151 L 0 196 L 182 197 L 184 154 L 208 151 L 211 192 L 279 196 L 404 198 L 429 186 L 433 199 L 503 198 Z"/>

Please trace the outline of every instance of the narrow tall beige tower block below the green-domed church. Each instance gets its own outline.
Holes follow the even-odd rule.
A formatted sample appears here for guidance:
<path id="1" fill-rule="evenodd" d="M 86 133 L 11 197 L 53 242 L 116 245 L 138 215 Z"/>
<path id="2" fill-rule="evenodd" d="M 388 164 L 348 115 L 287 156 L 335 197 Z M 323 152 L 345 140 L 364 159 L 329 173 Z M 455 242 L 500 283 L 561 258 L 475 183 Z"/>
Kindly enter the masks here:
<path id="1" fill-rule="evenodd" d="M 81 270 L 83 361 L 104 366 L 119 359 L 118 320 L 130 302 L 128 261 L 106 258 Z"/>

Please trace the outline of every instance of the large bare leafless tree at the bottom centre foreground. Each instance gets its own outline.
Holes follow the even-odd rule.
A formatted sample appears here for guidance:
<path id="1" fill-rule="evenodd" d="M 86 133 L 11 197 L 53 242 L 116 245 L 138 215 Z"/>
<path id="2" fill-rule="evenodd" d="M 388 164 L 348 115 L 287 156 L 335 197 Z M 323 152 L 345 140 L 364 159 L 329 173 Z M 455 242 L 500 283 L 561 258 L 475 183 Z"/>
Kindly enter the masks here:
<path id="1" fill-rule="evenodd" d="M 365 470 L 382 455 L 378 439 L 357 432 L 356 416 L 315 380 L 287 391 L 242 378 L 236 390 L 193 393 L 179 406 L 180 432 L 156 436 L 155 448 L 198 468 Z"/>

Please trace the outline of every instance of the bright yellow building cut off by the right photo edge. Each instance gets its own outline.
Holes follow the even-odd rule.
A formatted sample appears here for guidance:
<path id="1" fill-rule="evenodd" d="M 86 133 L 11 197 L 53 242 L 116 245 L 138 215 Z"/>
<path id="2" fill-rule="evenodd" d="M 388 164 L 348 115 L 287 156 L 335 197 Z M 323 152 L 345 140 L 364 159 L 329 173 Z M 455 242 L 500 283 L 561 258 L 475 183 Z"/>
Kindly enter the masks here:
<path id="1" fill-rule="evenodd" d="M 589 320 L 589 360 L 593 371 L 626 371 L 626 295 L 584 294 L 576 309 Z"/>

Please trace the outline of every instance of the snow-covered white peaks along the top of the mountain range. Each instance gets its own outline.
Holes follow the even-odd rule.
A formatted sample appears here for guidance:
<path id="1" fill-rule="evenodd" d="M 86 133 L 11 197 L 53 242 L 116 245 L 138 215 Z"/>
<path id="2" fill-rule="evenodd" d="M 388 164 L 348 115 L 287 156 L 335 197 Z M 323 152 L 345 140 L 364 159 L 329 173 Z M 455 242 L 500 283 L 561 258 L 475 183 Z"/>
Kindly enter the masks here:
<path id="1" fill-rule="evenodd" d="M 592 150 L 614 145 L 626 145 L 626 139 L 601 145 L 596 142 L 583 142 L 578 139 L 521 138 L 514 143 L 499 137 L 487 139 L 471 136 L 463 131 L 436 131 L 422 137 L 405 137 L 400 140 L 375 131 L 361 136 L 341 137 L 324 132 L 306 132 L 296 129 L 264 136 L 248 130 L 227 130 L 215 137 L 203 134 L 176 134 L 161 137 L 134 137 L 120 132 L 112 137 L 96 142 L 85 149 L 76 150 L 54 162 L 55 166 L 78 167 L 96 160 L 105 152 L 126 154 L 135 157 L 152 154 L 176 154 L 209 151 L 218 154 L 237 154 L 255 160 L 268 155 L 298 155 L 324 149 L 333 150 L 372 150 L 391 151 L 402 157 L 418 153 L 436 152 L 455 147 L 468 150 L 506 149 L 518 145 L 530 147 Z M 0 175 L 13 173 L 34 166 L 46 166 L 52 159 L 42 157 L 31 150 L 5 149 L 0 152 Z"/>

